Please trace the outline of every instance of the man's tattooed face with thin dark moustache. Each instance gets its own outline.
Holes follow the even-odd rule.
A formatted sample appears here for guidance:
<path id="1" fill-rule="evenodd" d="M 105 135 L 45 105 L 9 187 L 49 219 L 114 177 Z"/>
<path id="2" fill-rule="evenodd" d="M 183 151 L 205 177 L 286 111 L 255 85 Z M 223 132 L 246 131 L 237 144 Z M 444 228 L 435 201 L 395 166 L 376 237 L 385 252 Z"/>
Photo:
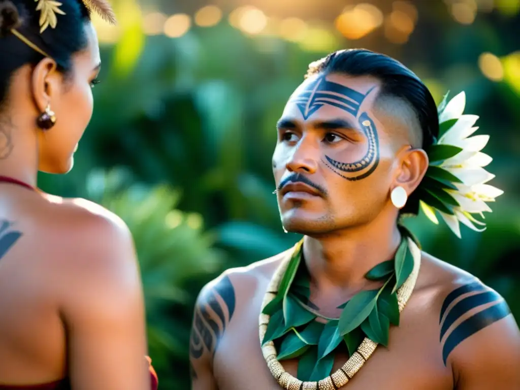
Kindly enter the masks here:
<path id="1" fill-rule="evenodd" d="M 286 230 L 359 226 L 389 205 L 396 150 L 374 113 L 379 88 L 371 77 L 321 73 L 289 99 L 272 158 Z"/>

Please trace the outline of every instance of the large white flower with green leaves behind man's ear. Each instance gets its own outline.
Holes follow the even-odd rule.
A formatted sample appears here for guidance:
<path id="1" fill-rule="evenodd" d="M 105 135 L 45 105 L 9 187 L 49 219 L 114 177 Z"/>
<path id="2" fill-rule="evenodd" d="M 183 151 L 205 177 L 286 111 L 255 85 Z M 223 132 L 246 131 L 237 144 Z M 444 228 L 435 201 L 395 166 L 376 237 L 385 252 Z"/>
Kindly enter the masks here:
<path id="1" fill-rule="evenodd" d="M 438 224 L 437 211 L 459 238 L 459 223 L 475 231 L 485 230 L 485 224 L 472 214 L 484 217 L 484 212 L 491 212 L 487 202 L 494 202 L 503 193 L 486 184 L 495 177 L 484 169 L 493 160 L 482 152 L 489 136 L 470 137 L 478 129 L 474 127 L 478 116 L 463 114 L 465 104 L 466 95 L 461 92 L 450 101 L 445 97 L 439 106 L 439 124 L 445 132 L 428 150 L 431 162 L 423 188 L 427 200 L 420 202 L 421 209 L 432 222 Z"/>

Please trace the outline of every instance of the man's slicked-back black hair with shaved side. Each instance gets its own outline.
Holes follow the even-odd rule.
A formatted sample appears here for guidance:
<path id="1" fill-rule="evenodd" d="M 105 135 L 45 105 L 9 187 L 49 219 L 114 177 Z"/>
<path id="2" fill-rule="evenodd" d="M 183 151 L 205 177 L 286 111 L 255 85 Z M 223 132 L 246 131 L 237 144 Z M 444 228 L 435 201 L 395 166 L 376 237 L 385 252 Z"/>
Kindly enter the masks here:
<path id="1" fill-rule="evenodd" d="M 378 99 L 395 96 L 407 101 L 419 120 L 422 132 L 422 147 L 432 145 L 439 135 L 437 105 L 415 73 L 401 62 L 366 49 L 339 50 L 313 62 L 307 76 L 316 73 L 343 73 L 350 76 L 373 76 L 381 82 Z M 419 129 L 417 129 L 419 131 Z M 412 193 L 401 214 L 419 212 L 419 199 Z"/>

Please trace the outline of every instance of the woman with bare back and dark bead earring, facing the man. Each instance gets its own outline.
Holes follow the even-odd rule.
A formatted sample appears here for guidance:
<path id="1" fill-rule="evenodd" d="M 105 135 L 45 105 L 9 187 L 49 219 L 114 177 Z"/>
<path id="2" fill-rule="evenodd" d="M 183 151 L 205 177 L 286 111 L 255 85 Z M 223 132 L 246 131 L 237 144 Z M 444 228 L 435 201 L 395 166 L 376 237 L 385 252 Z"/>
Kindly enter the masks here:
<path id="1" fill-rule="evenodd" d="M 71 170 L 100 70 L 105 0 L 0 0 L 0 389 L 157 388 L 132 236 L 36 189 Z"/>

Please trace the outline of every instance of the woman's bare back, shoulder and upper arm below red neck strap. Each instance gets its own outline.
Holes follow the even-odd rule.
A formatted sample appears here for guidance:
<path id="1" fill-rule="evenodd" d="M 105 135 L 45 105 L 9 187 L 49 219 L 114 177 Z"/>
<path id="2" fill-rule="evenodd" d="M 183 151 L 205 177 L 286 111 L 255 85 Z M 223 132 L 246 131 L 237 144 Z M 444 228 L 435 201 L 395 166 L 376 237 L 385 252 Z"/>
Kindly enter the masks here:
<path id="1" fill-rule="evenodd" d="M 0 183 L 0 313 L 1 384 L 148 388 L 126 372 L 148 368 L 132 239 L 102 207 Z"/>

